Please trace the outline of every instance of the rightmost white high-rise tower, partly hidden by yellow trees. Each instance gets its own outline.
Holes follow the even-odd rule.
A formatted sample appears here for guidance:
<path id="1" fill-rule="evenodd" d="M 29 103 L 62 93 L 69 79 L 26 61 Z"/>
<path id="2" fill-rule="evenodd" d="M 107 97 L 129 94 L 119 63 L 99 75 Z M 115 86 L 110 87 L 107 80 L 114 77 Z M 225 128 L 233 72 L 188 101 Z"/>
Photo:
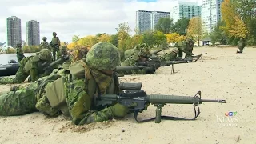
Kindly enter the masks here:
<path id="1" fill-rule="evenodd" d="M 221 20 L 221 4 L 223 0 L 202 1 L 202 23 L 208 33 L 214 30 Z"/>

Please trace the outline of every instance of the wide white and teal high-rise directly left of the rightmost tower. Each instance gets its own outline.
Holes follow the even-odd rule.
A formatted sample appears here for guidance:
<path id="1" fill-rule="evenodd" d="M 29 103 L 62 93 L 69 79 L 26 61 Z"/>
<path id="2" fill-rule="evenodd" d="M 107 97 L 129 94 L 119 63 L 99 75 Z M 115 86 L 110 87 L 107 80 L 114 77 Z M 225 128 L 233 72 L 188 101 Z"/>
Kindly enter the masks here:
<path id="1" fill-rule="evenodd" d="M 198 6 L 196 2 L 175 1 L 170 8 L 170 18 L 175 23 L 181 18 L 201 17 L 201 10 L 202 7 Z"/>

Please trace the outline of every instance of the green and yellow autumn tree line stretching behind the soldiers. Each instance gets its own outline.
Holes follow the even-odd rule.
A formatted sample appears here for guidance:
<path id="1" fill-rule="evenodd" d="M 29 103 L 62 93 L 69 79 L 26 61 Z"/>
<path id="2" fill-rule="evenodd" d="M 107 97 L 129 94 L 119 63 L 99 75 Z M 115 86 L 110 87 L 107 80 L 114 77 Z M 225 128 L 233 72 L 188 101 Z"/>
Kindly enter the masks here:
<path id="1" fill-rule="evenodd" d="M 193 38 L 201 41 L 203 38 L 210 37 L 212 43 L 237 45 L 240 38 L 246 38 L 246 45 L 256 44 L 256 23 L 255 0 L 224 0 L 221 6 L 222 20 L 214 27 L 212 33 L 207 34 L 202 26 L 202 19 L 194 17 L 179 19 L 173 22 L 170 18 L 160 18 L 154 30 L 148 30 L 131 35 L 132 30 L 128 22 L 123 22 L 116 28 L 116 34 L 96 34 L 80 38 L 74 35 L 69 49 L 74 47 L 90 47 L 97 42 L 111 42 L 119 50 L 134 48 L 139 43 L 146 43 L 150 47 L 167 46 L 170 43 L 180 42 L 186 38 Z"/>

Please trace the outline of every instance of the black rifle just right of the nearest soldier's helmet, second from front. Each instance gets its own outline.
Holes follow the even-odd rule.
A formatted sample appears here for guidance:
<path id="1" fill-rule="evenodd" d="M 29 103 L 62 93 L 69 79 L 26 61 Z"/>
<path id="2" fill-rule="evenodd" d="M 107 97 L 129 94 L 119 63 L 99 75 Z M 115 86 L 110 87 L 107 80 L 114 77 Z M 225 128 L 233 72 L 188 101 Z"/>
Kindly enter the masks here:
<path id="1" fill-rule="evenodd" d="M 132 74 L 131 70 L 145 70 L 146 74 L 153 74 L 156 70 L 155 66 L 117 66 L 115 71 L 119 77 L 123 74 Z"/>

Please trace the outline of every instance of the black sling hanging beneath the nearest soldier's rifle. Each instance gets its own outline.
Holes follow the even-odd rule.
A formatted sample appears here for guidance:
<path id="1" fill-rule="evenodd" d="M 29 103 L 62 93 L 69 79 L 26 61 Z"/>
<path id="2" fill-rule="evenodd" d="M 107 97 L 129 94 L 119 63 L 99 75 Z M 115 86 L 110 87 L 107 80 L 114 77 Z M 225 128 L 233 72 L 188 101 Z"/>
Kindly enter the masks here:
<path id="1" fill-rule="evenodd" d="M 196 110 L 196 107 L 198 107 L 198 112 Z M 149 119 L 143 119 L 141 121 L 138 120 L 138 110 L 135 110 L 134 111 L 134 119 L 137 121 L 137 122 L 150 122 L 152 120 L 155 119 L 154 118 L 149 118 Z M 192 121 L 192 120 L 195 120 L 196 118 L 198 118 L 198 115 L 200 114 L 200 108 L 198 105 L 194 106 L 194 118 L 179 118 L 179 117 L 171 117 L 171 116 L 165 116 L 165 115 L 162 115 L 161 116 L 161 119 L 166 119 L 166 120 L 179 120 L 179 121 Z"/>

